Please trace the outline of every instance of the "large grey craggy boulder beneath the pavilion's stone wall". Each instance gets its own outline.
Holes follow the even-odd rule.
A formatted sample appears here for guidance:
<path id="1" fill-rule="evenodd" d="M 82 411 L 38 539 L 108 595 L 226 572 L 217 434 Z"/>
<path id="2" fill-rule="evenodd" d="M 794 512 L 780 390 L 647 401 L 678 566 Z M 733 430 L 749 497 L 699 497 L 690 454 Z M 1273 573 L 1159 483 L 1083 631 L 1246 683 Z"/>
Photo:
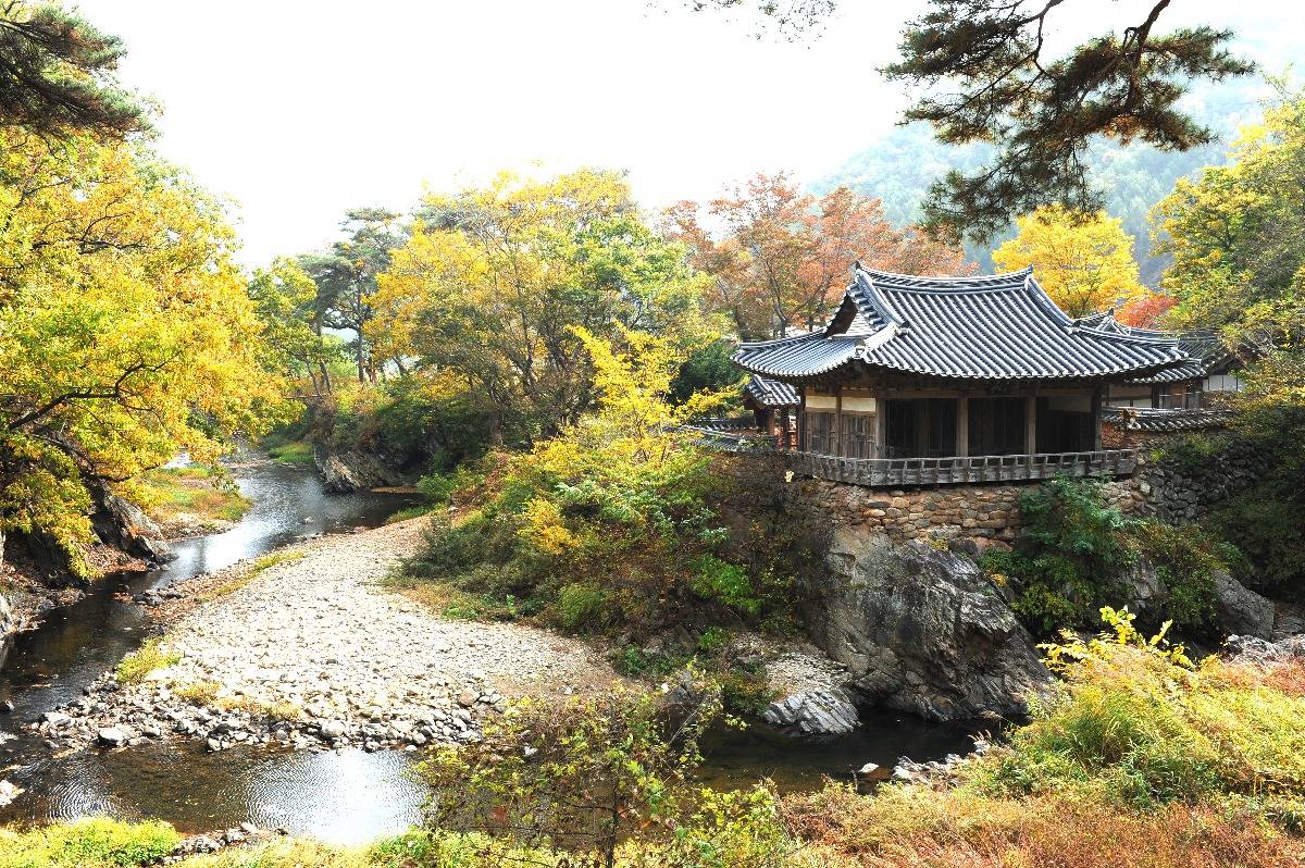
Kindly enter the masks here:
<path id="1" fill-rule="evenodd" d="M 1051 680 L 968 557 L 838 527 L 808 581 L 813 641 L 870 702 L 936 721 L 1011 715 Z"/>

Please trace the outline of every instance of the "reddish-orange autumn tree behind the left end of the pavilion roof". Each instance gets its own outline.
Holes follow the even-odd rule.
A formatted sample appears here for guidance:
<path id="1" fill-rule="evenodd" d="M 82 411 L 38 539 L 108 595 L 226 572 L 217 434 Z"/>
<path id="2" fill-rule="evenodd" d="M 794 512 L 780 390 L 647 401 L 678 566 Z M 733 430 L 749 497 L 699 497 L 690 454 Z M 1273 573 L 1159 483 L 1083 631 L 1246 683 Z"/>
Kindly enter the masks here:
<path id="1" fill-rule="evenodd" d="M 784 174 L 756 175 L 706 209 L 679 202 L 666 222 L 693 251 L 694 268 L 711 277 L 711 307 L 744 339 L 814 328 L 842 295 L 856 260 L 911 274 L 966 269 L 960 249 L 893 226 L 877 198 L 846 187 L 817 198 Z"/>

